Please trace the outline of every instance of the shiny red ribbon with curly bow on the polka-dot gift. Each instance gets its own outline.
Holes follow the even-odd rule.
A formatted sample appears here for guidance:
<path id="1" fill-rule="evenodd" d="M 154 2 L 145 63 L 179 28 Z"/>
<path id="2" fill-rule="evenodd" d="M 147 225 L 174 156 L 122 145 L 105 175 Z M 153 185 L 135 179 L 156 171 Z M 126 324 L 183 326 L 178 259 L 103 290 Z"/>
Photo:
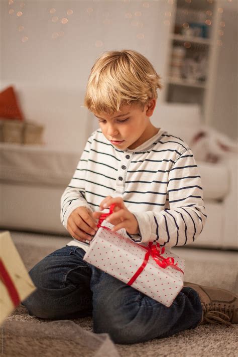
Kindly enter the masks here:
<path id="1" fill-rule="evenodd" d="M 111 213 L 113 213 L 113 209 L 114 209 L 115 204 L 112 204 L 109 207 L 109 213 L 103 213 L 101 214 L 99 220 L 98 220 L 98 227 L 102 227 L 105 228 L 107 230 L 111 230 L 110 228 L 101 225 L 102 221 L 109 216 Z M 114 232 L 116 235 L 120 236 L 121 238 L 122 235 Z M 182 269 L 180 269 L 178 267 L 178 263 L 174 264 L 174 258 L 173 257 L 168 257 L 168 258 L 164 258 L 162 257 L 161 254 L 164 254 L 165 251 L 165 247 L 161 248 L 159 243 L 156 243 L 155 245 L 153 244 L 153 242 L 149 242 L 148 247 L 142 246 L 141 244 L 138 244 L 138 246 L 144 248 L 147 252 L 145 254 L 145 258 L 144 261 L 142 263 L 142 265 L 140 266 L 140 268 L 136 271 L 136 273 L 133 275 L 133 277 L 130 279 L 130 281 L 127 283 L 127 285 L 132 285 L 134 283 L 134 281 L 138 278 L 138 276 L 141 274 L 141 272 L 145 269 L 149 257 L 152 256 L 152 258 L 154 259 L 154 261 L 156 262 L 156 264 L 158 264 L 161 268 L 165 269 L 168 266 L 171 266 L 172 268 L 180 271 L 181 273 L 184 274 L 184 272 L 182 271 Z"/>

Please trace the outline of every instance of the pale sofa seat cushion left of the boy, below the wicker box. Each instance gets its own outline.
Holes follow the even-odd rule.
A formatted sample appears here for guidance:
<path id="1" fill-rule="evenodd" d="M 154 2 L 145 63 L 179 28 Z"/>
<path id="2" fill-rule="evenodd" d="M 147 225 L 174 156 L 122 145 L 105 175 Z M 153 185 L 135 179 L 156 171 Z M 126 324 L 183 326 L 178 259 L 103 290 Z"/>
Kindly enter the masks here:
<path id="1" fill-rule="evenodd" d="M 79 153 L 38 145 L 0 144 L 0 180 L 40 186 L 66 187 Z"/>

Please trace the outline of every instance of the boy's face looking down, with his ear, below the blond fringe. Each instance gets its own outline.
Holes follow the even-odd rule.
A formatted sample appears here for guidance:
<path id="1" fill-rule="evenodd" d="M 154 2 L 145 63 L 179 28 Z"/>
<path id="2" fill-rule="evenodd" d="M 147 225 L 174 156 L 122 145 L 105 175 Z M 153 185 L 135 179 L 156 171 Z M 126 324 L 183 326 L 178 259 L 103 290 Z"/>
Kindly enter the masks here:
<path id="1" fill-rule="evenodd" d="M 118 149 L 135 149 L 156 134 L 150 122 L 156 99 L 151 99 L 142 111 L 136 104 L 124 105 L 112 115 L 94 113 L 104 137 Z M 158 131 L 158 130 L 157 130 Z"/>

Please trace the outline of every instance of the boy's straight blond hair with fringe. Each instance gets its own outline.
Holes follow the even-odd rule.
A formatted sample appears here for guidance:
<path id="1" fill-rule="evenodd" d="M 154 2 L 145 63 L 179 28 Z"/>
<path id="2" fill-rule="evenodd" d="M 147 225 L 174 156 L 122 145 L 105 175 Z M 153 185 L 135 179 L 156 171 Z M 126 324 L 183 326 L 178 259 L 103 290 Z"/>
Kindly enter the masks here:
<path id="1" fill-rule="evenodd" d="M 133 50 L 107 51 L 91 68 L 84 107 L 112 114 L 123 105 L 138 104 L 142 110 L 162 89 L 161 77 L 150 61 Z"/>

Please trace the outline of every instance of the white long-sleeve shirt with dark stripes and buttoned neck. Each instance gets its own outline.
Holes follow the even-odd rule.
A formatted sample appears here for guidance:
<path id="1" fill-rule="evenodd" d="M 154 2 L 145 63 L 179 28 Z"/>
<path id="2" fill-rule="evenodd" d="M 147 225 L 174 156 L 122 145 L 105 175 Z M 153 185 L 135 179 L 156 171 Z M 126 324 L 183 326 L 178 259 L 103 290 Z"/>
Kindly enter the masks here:
<path id="1" fill-rule="evenodd" d="M 79 206 L 99 210 L 106 196 L 122 197 L 136 216 L 135 243 L 158 242 L 167 249 L 194 242 L 206 221 L 199 170 L 188 145 L 160 129 L 133 150 L 116 149 L 95 131 L 61 197 L 61 222 L 67 227 Z M 87 251 L 89 242 L 68 245 Z"/>

